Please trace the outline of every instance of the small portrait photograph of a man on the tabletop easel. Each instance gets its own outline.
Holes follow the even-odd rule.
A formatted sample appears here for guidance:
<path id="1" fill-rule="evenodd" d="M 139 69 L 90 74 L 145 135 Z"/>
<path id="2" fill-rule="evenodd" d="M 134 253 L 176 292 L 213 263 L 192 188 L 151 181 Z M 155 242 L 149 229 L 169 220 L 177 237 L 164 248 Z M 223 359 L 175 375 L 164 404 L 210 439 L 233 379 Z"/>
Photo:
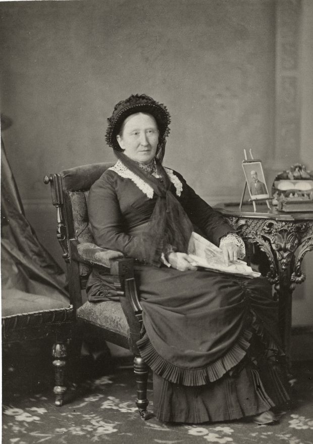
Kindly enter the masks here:
<path id="1" fill-rule="evenodd" d="M 266 186 L 262 163 L 260 160 L 244 160 L 242 168 L 246 178 L 250 199 L 269 199 L 269 191 Z"/>

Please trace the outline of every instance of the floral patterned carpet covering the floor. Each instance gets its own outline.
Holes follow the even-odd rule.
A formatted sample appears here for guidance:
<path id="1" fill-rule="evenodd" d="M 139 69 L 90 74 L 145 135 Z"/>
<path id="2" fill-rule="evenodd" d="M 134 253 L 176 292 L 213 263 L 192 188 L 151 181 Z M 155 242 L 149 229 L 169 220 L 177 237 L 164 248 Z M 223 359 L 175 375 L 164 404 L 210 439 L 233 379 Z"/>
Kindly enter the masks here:
<path id="1" fill-rule="evenodd" d="M 3 444 L 113 443 L 220 443 L 313 444 L 313 363 L 294 365 L 294 404 L 278 424 L 258 426 L 248 421 L 186 425 L 162 424 L 153 415 L 142 421 L 135 406 L 135 381 L 130 368 L 105 375 L 93 371 L 79 388 L 72 387 L 68 402 L 54 405 L 48 360 L 42 355 L 27 359 L 4 354 Z M 38 365 L 40 362 L 40 365 Z M 103 367 L 102 367 L 103 368 Z M 15 370 L 14 370 L 15 369 Z M 109 369 L 110 370 L 110 369 Z M 149 410 L 153 391 L 148 387 Z"/>

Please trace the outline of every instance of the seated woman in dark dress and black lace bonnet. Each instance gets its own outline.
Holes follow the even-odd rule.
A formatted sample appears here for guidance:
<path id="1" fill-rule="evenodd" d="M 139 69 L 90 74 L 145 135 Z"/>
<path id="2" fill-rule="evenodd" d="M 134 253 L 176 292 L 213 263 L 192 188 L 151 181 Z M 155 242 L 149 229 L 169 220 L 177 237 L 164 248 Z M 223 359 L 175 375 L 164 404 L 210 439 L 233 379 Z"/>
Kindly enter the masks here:
<path id="1" fill-rule="evenodd" d="M 91 187 L 88 212 L 95 242 L 136 260 L 144 324 L 138 348 L 153 371 L 156 417 L 272 423 L 271 409 L 289 397 L 271 285 L 198 270 L 187 255 L 192 231 L 220 246 L 227 264 L 245 253 L 222 216 L 163 167 L 166 107 L 131 95 L 108 121 L 118 161 Z M 87 294 L 96 302 L 117 293 L 94 270 Z"/>

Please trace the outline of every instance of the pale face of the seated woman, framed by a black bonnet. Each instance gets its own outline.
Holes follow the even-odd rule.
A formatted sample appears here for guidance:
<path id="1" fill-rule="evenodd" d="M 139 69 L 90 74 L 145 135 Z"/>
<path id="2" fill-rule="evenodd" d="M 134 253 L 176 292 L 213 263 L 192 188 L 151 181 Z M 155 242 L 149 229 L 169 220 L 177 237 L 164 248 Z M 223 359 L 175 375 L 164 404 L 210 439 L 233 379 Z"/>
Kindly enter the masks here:
<path id="1" fill-rule="evenodd" d="M 150 114 L 136 113 L 128 116 L 117 141 L 130 159 L 147 164 L 155 156 L 159 143 L 159 129 Z"/>

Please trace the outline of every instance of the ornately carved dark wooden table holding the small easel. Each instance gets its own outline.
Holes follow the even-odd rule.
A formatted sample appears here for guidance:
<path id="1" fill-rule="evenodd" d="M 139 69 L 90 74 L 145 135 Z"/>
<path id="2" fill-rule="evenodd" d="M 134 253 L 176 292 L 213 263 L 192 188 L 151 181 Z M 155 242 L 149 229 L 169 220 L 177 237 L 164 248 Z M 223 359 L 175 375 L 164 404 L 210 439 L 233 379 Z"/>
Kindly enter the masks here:
<path id="1" fill-rule="evenodd" d="M 313 213 L 283 213 L 265 205 L 219 204 L 216 207 L 237 230 L 245 243 L 257 244 L 266 253 L 270 269 L 267 278 L 274 285 L 279 304 L 279 329 L 290 356 L 291 306 L 295 284 L 305 280 L 301 270 L 304 255 L 313 250 Z"/>

